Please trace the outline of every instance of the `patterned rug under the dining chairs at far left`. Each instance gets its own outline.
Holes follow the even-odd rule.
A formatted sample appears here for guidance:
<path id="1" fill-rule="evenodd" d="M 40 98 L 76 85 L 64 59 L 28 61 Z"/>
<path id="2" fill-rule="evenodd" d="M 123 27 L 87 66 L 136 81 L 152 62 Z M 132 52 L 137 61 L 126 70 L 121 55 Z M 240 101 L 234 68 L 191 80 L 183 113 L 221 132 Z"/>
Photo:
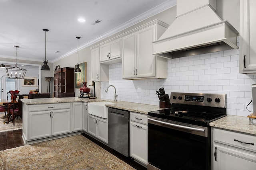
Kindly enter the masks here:
<path id="1" fill-rule="evenodd" d="M 20 117 L 15 119 L 15 126 L 13 126 L 12 121 L 8 124 L 4 123 L 6 121 L 7 117 L 4 117 L 4 112 L 0 112 L 0 132 L 22 129 L 22 119 Z"/>

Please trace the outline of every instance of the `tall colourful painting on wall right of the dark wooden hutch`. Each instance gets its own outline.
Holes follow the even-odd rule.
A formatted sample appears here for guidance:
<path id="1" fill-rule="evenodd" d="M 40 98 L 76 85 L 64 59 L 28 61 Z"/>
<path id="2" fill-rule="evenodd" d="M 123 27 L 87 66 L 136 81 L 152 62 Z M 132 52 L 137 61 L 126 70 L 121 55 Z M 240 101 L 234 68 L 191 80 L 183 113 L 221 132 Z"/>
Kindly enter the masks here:
<path id="1" fill-rule="evenodd" d="M 83 86 L 83 82 L 87 82 L 86 62 L 79 64 L 79 68 L 81 69 L 81 72 L 75 73 L 75 88 L 80 88 Z"/>

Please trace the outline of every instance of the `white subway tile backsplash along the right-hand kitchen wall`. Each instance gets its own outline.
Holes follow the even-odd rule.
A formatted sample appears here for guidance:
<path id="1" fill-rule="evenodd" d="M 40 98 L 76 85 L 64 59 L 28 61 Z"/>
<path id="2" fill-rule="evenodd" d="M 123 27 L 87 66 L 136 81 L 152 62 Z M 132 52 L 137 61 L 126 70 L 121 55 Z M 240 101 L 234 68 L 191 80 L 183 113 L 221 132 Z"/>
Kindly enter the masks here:
<path id="1" fill-rule="evenodd" d="M 190 57 L 168 59 L 167 79 L 123 80 L 122 64 L 110 64 L 109 81 L 101 82 L 101 98 L 141 104 L 159 105 L 155 91 L 164 87 L 171 92 L 223 93 L 226 94 L 226 113 L 247 116 L 247 104 L 251 100 L 251 85 L 256 83 L 256 75 L 239 73 L 238 49 L 220 51 Z M 149 94 L 147 91 L 149 90 Z M 252 109 L 251 104 L 248 108 Z"/>

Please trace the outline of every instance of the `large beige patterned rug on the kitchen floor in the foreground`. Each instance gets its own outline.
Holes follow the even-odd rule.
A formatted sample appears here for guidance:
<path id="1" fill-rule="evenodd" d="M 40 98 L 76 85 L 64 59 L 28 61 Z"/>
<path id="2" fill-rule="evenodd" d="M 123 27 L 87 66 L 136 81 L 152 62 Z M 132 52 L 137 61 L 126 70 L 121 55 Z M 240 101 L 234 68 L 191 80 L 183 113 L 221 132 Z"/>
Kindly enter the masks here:
<path id="1" fill-rule="evenodd" d="M 0 170 L 135 170 L 82 135 L 0 151 Z"/>

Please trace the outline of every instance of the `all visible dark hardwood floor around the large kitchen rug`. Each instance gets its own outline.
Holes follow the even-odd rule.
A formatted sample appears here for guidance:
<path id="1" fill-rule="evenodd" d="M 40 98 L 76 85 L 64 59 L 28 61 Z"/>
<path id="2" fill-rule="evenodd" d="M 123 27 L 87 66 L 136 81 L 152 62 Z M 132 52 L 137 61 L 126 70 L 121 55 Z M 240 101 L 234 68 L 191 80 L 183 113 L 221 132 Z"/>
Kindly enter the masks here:
<path id="1" fill-rule="evenodd" d="M 126 156 L 116 152 L 115 150 L 111 149 L 110 147 L 104 145 L 103 143 L 97 141 L 96 139 L 86 135 L 85 133 L 82 134 L 84 137 L 90 139 L 103 149 L 107 150 L 108 152 L 112 153 L 119 159 L 123 160 L 130 166 L 134 167 L 136 170 L 146 170 L 144 166 L 138 164 L 137 162 L 134 161 L 133 158 L 127 158 Z M 6 132 L 0 132 L 0 150 L 5 150 L 5 149 L 11 149 L 15 147 L 20 147 L 24 145 L 22 141 L 22 129 L 15 130 L 15 131 L 6 131 Z"/>

